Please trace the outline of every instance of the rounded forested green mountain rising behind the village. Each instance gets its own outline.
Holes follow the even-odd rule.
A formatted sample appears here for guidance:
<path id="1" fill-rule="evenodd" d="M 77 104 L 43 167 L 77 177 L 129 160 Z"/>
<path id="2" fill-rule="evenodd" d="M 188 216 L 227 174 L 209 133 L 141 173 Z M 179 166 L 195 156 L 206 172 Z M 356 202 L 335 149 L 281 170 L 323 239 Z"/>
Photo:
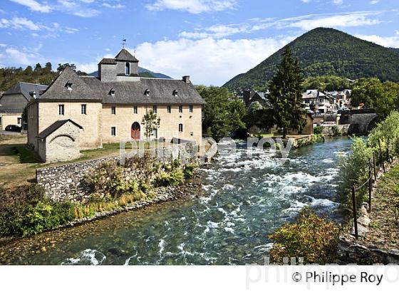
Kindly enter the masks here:
<path id="1" fill-rule="evenodd" d="M 315 28 L 291 41 L 294 56 L 299 58 L 305 77 L 337 75 L 350 79 L 378 77 L 399 81 L 397 49 L 385 48 L 333 28 Z M 264 89 L 273 77 L 284 48 L 266 58 L 247 73 L 242 73 L 223 86 Z"/>

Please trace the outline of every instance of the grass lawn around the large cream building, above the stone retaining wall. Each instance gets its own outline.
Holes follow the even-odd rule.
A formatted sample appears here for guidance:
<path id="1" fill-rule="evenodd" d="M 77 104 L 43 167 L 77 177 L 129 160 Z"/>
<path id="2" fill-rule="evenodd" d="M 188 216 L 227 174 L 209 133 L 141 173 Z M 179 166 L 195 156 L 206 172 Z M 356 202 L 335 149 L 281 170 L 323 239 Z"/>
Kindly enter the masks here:
<path id="1" fill-rule="evenodd" d="M 36 169 L 41 167 L 51 167 L 64 165 L 71 162 L 83 160 L 93 160 L 102 157 L 118 155 L 120 152 L 119 143 L 104 144 L 101 149 L 83 150 L 82 157 L 70 162 L 58 162 L 51 164 L 41 163 L 40 158 L 35 152 L 26 147 L 26 135 L 0 135 L 0 185 L 5 187 L 16 187 L 21 184 L 33 182 L 36 176 Z M 160 147 L 163 143 L 145 142 L 145 149 L 150 147 Z M 132 149 L 132 145 L 125 145 L 126 152 Z"/>

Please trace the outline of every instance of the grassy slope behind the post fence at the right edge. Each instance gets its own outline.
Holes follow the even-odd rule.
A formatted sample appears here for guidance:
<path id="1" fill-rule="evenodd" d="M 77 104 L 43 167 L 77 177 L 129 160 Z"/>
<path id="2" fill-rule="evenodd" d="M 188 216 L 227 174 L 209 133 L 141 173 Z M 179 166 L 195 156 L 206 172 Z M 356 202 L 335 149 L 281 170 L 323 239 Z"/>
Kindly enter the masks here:
<path id="1" fill-rule="evenodd" d="M 386 250 L 399 249 L 399 165 L 380 178 L 371 205 L 366 244 Z"/>

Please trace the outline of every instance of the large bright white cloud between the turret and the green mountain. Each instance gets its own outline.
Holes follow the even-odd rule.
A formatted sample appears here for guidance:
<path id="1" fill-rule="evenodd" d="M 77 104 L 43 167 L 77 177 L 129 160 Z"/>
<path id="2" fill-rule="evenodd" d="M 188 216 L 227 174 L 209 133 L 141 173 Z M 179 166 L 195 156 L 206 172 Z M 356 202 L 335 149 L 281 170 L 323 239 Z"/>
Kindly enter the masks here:
<path id="1" fill-rule="evenodd" d="M 195 84 L 223 85 L 234 75 L 257 66 L 292 39 L 179 38 L 175 41 L 141 43 L 136 47 L 135 56 L 140 60 L 140 66 L 151 71 L 173 78 L 191 75 Z"/>

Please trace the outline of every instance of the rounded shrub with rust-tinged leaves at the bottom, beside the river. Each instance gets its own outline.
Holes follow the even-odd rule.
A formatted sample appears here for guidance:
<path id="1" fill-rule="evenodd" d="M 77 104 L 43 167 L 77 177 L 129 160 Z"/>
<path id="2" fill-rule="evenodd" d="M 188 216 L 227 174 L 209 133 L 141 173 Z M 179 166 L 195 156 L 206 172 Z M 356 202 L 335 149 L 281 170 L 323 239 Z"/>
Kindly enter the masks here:
<path id="1" fill-rule="evenodd" d="M 282 264 L 284 257 L 303 257 L 304 264 L 328 264 L 336 257 L 338 226 L 318 217 L 309 207 L 301 210 L 294 223 L 288 223 L 269 236 L 274 241 L 271 262 Z"/>

